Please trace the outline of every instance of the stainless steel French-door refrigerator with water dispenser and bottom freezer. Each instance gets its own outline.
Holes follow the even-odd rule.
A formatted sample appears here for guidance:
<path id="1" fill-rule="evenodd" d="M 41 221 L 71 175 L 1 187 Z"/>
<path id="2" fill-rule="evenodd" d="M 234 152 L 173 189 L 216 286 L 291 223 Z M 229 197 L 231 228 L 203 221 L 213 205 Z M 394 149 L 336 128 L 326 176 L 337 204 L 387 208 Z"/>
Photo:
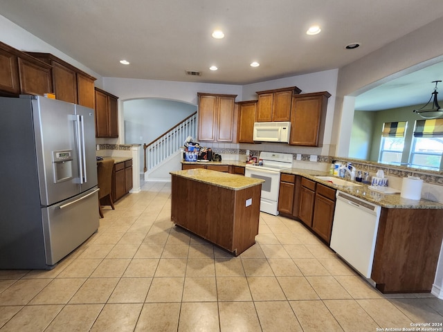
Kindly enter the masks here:
<path id="1" fill-rule="evenodd" d="M 98 230 L 93 112 L 0 98 L 0 268 L 51 269 Z"/>

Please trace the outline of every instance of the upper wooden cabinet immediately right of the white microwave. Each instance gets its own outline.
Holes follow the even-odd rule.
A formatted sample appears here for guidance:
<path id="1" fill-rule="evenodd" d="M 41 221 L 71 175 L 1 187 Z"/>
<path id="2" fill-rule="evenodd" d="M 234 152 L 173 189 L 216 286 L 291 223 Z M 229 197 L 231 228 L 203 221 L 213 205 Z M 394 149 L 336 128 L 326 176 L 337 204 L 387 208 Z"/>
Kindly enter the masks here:
<path id="1" fill-rule="evenodd" d="M 292 96 L 290 145 L 318 147 L 323 142 L 327 91 Z"/>

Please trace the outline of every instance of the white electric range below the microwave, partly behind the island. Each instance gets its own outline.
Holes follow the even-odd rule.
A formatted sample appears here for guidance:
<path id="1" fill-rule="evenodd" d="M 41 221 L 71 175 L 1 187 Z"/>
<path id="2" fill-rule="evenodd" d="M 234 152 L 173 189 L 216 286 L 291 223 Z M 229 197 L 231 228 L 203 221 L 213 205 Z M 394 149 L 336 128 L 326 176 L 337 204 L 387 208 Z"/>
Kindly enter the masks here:
<path id="1" fill-rule="evenodd" d="M 275 152 L 260 152 L 263 165 L 246 164 L 244 176 L 261 178 L 262 196 L 260 199 L 260 211 L 278 215 L 278 190 L 280 188 L 280 171 L 292 167 L 292 154 Z"/>

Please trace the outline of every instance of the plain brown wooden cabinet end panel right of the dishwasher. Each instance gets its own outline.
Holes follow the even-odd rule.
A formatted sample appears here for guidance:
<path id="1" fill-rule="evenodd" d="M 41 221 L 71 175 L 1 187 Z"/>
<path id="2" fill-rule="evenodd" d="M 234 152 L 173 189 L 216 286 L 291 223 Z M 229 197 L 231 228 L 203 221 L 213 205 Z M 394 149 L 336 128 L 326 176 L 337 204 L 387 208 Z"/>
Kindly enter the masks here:
<path id="1" fill-rule="evenodd" d="M 381 293 L 432 290 L 442 220 L 440 209 L 381 209 L 371 275 Z"/>

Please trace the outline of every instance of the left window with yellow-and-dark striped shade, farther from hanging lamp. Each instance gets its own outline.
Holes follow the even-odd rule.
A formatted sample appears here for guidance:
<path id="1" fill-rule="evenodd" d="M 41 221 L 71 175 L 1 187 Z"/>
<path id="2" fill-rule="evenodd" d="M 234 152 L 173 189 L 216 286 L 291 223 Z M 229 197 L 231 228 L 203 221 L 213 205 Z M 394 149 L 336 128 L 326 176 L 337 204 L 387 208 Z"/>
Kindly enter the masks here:
<path id="1" fill-rule="evenodd" d="M 383 123 L 379 163 L 401 164 L 405 131 L 406 121 Z"/>

